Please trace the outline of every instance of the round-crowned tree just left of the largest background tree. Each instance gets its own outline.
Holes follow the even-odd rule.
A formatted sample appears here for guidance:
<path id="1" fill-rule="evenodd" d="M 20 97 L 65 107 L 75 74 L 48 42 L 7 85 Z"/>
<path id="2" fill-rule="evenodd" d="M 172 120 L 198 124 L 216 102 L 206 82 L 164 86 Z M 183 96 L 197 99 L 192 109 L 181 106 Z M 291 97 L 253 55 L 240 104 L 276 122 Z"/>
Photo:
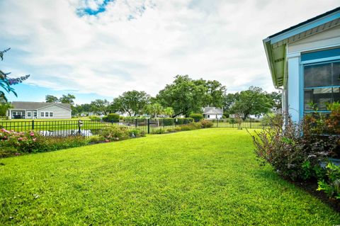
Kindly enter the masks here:
<path id="1" fill-rule="evenodd" d="M 145 91 L 132 90 L 114 98 L 111 108 L 122 113 L 127 112 L 130 116 L 136 116 L 144 113 L 149 102 L 150 96 Z"/>

